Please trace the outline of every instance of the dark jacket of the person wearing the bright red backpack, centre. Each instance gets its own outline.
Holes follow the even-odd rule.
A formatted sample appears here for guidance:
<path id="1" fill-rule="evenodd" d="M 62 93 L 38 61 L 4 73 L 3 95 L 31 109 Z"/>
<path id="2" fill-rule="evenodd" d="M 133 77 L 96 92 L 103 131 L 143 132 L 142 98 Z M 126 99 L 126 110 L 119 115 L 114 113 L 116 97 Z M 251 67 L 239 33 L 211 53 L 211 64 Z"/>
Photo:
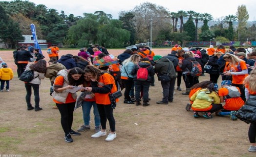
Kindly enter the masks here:
<path id="1" fill-rule="evenodd" d="M 142 68 L 147 68 L 148 69 L 148 72 L 149 72 L 149 77 L 147 79 L 148 82 L 151 82 L 151 77 L 154 77 L 155 75 L 155 71 L 154 71 L 154 68 L 153 66 L 150 64 L 149 61 L 141 61 L 139 62 L 139 66 L 142 67 Z M 134 77 L 134 81 L 139 81 L 137 80 L 137 72 L 139 70 L 139 66 L 138 65 L 135 65 L 134 69 L 132 70 L 131 72 L 131 75 L 135 75 L 136 77 Z"/>

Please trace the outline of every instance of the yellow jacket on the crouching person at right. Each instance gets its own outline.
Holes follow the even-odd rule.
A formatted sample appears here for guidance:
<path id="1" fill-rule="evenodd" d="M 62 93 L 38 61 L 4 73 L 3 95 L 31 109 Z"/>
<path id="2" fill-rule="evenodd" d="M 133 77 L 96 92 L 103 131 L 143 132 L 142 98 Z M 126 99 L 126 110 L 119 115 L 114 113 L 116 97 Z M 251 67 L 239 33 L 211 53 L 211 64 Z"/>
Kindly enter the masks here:
<path id="1" fill-rule="evenodd" d="M 210 98 L 210 101 L 205 99 L 199 99 L 197 97 L 197 95 L 202 91 L 206 92 L 206 95 L 208 96 L 208 98 Z M 201 109 L 209 108 L 212 103 L 214 104 L 220 103 L 219 96 L 216 92 L 213 91 L 210 94 L 208 94 L 208 92 L 209 92 L 208 89 L 201 89 L 201 90 L 198 90 L 196 93 L 194 93 L 190 98 L 193 101 L 192 108 L 201 110 Z"/>

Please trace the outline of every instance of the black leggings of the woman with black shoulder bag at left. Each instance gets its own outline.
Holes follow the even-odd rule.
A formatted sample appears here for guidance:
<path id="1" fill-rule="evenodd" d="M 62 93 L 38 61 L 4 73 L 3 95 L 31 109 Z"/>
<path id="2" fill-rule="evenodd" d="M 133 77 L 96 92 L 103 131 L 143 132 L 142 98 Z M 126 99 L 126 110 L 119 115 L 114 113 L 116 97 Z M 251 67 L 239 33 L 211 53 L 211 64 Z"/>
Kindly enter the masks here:
<path id="1" fill-rule="evenodd" d="M 34 96 L 35 96 L 35 107 L 39 107 L 40 97 L 39 97 L 39 84 L 33 84 L 33 83 L 25 83 L 25 88 L 27 91 L 26 94 L 26 102 L 27 107 L 31 107 L 31 94 L 32 94 L 32 88 L 34 90 Z"/>

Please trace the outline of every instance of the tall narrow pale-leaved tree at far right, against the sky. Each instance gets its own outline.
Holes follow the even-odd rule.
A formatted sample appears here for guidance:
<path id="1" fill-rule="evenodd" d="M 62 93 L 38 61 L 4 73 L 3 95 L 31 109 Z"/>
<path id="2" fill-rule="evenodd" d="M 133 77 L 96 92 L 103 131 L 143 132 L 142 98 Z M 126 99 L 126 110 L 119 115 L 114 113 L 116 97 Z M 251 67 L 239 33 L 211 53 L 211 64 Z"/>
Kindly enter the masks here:
<path id="1" fill-rule="evenodd" d="M 246 35 L 244 34 L 244 32 L 246 30 L 247 20 L 249 19 L 249 15 L 245 5 L 242 4 L 241 6 L 239 5 L 237 7 L 236 17 L 238 20 L 238 28 L 237 28 L 238 41 L 240 41 L 240 39 L 245 40 Z"/>

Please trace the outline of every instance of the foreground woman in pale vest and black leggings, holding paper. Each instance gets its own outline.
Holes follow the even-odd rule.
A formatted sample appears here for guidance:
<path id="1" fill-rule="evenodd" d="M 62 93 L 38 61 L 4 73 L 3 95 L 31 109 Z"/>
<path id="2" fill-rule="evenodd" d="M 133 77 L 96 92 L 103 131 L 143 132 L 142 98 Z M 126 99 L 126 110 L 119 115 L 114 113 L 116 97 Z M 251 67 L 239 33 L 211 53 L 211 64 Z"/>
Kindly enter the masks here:
<path id="1" fill-rule="evenodd" d="M 83 70 L 81 68 L 72 68 L 70 70 L 61 70 L 58 73 L 57 78 L 55 78 L 52 93 L 53 101 L 56 103 L 60 114 L 61 114 L 61 124 L 65 133 L 65 141 L 73 142 L 71 135 L 81 135 L 71 129 L 73 122 L 73 112 L 75 108 L 76 93 L 70 93 L 70 89 L 74 86 L 83 87 L 82 78 Z M 82 91 L 80 88 L 79 91 Z"/>

